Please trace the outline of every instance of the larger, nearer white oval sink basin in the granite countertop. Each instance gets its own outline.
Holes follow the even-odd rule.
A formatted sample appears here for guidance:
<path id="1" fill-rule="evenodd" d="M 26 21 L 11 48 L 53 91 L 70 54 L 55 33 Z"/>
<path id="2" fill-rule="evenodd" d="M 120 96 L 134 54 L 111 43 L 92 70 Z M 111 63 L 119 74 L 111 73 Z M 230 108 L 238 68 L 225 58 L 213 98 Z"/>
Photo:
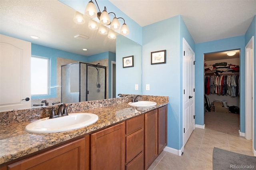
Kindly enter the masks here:
<path id="1" fill-rule="evenodd" d="M 68 116 L 49 119 L 49 117 L 34 121 L 25 128 L 31 133 L 54 133 L 74 130 L 92 125 L 98 121 L 98 116 L 92 113 L 70 113 Z"/>

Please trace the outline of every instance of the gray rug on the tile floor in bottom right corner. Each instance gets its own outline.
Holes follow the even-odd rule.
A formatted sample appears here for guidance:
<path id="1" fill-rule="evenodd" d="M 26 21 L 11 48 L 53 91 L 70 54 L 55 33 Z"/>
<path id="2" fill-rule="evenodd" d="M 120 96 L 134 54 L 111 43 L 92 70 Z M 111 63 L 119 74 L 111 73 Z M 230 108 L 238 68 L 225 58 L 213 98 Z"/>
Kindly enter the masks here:
<path id="1" fill-rule="evenodd" d="M 238 154 L 214 147 L 212 154 L 212 167 L 214 170 L 256 169 L 256 157 Z"/>

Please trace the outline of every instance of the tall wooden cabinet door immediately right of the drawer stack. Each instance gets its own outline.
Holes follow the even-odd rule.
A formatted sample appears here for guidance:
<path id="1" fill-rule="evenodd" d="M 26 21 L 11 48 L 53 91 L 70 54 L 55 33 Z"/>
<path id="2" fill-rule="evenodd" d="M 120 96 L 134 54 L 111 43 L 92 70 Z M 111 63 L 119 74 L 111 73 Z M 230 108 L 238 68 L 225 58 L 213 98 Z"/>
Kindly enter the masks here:
<path id="1" fill-rule="evenodd" d="M 157 154 L 157 109 L 145 114 L 145 169 L 154 162 Z"/>

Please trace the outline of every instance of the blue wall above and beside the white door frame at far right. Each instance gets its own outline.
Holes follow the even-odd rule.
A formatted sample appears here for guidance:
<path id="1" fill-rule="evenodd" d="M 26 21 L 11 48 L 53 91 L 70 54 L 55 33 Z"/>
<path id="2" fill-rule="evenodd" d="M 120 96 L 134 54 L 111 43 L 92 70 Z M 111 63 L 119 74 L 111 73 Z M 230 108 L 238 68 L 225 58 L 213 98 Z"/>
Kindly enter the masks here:
<path id="1" fill-rule="evenodd" d="M 256 16 L 254 16 L 252 23 L 250 24 L 246 34 L 245 34 L 245 45 L 250 41 L 250 39 L 254 36 L 254 149 L 256 148 Z"/>

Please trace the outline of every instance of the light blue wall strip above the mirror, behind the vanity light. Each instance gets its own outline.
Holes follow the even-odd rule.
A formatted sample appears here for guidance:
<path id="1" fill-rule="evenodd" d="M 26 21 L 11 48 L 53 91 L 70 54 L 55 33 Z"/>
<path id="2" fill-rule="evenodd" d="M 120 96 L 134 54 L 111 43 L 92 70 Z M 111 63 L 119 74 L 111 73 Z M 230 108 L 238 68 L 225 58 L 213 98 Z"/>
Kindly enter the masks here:
<path id="1" fill-rule="evenodd" d="M 84 9 L 89 2 L 89 0 L 59 0 L 59 1 L 70 6 L 71 8 L 75 9 L 76 11 L 82 14 L 84 14 Z M 96 5 L 94 0 L 93 2 Z M 130 17 L 124 14 L 121 10 L 119 10 L 116 6 L 114 6 L 110 1 L 100 0 L 97 2 L 101 12 L 104 10 L 104 6 L 106 6 L 108 13 L 114 12 L 117 18 L 119 17 L 124 18 L 125 23 L 130 30 L 130 33 L 126 37 L 133 40 L 134 42 L 142 44 L 142 37 L 141 37 L 142 27 L 139 24 L 137 24 L 134 20 L 132 20 Z M 119 22 L 120 22 L 120 26 L 122 26 L 122 24 L 124 23 L 122 19 L 119 19 Z"/>

